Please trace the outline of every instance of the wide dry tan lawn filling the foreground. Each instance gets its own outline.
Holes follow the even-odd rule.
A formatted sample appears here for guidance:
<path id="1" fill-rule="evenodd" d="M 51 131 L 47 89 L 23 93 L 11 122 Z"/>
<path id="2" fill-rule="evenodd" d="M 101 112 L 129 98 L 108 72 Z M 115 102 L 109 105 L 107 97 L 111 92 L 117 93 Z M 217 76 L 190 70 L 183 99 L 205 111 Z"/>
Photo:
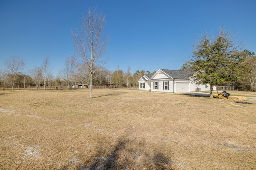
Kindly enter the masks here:
<path id="1" fill-rule="evenodd" d="M 256 102 L 126 89 L 89 96 L 0 92 L 0 169 L 256 169 Z"/>

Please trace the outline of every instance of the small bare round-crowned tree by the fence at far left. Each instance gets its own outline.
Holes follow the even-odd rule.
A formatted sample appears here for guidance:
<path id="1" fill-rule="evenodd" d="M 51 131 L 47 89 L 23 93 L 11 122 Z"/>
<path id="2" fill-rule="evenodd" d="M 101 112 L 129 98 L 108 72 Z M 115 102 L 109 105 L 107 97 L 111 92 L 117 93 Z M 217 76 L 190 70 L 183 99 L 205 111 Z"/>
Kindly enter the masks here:
<path id="1" fill-rule="evenodd" d="M 22 70 L 25 66 L 24 59 L 22 59 L 22 57 L 20 57 L 20 56 L 16 57 L 14 55 L 14 56 L 6 59 L 4 62 L 4 65 L 6 66 L 7 70 L 10 71 L 11 81 L 12 81 L 12 91 L 13 91 L 16 74 L 17 74 L 18 70 Z"/>

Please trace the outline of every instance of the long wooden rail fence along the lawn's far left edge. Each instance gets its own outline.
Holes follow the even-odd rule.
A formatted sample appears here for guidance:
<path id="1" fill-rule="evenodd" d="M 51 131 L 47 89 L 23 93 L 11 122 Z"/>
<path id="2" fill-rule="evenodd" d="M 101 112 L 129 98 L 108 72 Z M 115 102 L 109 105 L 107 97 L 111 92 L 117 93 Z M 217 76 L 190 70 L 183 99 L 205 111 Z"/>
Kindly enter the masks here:
<path id="1" fill-rule="evenodd" d="M 1 86 L 2 91 L 4 90 L 12 90 L 12 86 Z M 90 88 L 88 86 L 85 86 L 83 88 L 80 87 L 74 87 L 74 86 L 14 86 L 14 90 L 76 90 L 76 89 L 86 89 Z M 93 86 L 92 88 L 115 88 L 115 86 Z M 126 88 L 126 87 L 123 87 Z M 130 87 L 128 89 L 138 89 L 138 87 Z"/>

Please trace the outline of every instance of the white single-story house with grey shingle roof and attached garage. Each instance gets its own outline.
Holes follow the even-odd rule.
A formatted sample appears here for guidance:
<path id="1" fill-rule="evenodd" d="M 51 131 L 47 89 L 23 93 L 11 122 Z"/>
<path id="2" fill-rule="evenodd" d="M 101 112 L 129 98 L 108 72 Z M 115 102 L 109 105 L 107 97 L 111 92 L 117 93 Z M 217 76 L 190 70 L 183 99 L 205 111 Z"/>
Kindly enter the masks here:
<path id="1" fill-rule="evenodd" d="M 140 90 L 155 92 L 194 92 L 210 90 L 210 85 L 194 84 L 190 78 L 190 70 L 159 69 L 154 75 L 144 75 L 140 78 Z"/>

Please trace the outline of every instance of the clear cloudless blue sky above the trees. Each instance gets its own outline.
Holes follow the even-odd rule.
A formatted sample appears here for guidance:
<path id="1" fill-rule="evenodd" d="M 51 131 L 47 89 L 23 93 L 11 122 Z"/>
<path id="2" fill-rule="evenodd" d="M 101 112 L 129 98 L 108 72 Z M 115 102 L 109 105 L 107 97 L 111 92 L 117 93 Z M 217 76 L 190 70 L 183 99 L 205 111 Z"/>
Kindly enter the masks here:
<path id="1" fill-rule="evenodd" d="M 20 55 L 28 74 L 49 55 L 56 76 L 74 53 L 70 31 L 95 6 L 107 16 L 108 70 L 177 70 L 200 33 L 221 24 L 256 53 L 256 0 L 0 0 L 0 69 Z"/>

